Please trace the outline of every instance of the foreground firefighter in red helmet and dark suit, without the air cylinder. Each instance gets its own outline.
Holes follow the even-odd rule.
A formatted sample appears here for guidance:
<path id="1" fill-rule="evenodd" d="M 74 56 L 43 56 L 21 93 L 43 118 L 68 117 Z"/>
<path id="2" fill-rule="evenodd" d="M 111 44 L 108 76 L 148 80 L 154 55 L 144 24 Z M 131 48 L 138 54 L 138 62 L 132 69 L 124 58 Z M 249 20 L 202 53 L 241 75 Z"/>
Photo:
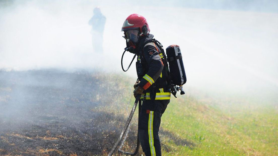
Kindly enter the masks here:
<path id="1" fill-rule="evenodd" d="M 127 51 L 137 55 L 138 79 L 133 94 L 135 97 L 141 94 L 143 101 L 138 123 L 140 144 L 145 155 L 161 155 L 160 119 L 170 102 L 162 47 L 153 39 L 147 20 L 141 15 L 128 16 L 121 31 L 125 35 Z"/>

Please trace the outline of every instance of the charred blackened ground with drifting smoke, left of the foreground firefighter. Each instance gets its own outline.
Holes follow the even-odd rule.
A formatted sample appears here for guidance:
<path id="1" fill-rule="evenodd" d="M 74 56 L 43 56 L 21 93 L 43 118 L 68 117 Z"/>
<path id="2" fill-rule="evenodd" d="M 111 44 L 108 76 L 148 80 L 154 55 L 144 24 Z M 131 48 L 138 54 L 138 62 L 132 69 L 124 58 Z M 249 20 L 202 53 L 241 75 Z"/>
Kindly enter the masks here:
<path id="1" fill-rule="evenodd" d="M 130 99 L 130 83 L 100 72 L 0 71 L 0 155 L 107 155 L 132 107 L 123 103 Z M 133 123 L 132 141 L 123 148 L 129 152 L 137 134 Z"/>

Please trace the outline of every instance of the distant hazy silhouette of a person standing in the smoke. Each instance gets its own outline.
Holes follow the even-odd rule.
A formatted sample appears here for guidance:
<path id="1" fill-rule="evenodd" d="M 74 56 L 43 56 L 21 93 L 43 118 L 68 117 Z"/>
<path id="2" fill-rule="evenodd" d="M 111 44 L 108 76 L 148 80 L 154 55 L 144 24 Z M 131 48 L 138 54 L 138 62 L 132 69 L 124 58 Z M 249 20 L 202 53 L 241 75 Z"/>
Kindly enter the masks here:
<path id="1" fill-rule="evenodd" d="M 94 9 L 94 16 L 90 19 L 89 25 L 92 26 L 92 43 L 94 52 L 102 53 L 103 47 L 103 30 L 105 25 L 106 18 L 101 14 L 100 7 Z"/>

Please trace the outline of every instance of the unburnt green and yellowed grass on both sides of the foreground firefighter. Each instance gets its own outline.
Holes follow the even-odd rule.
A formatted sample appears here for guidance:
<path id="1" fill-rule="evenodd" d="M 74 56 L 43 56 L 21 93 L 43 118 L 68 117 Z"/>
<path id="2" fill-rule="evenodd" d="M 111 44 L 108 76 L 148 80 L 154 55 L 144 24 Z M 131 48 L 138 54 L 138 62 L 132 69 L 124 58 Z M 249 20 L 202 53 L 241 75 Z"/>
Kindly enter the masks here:
<path id="1" fill-rule="evenodd" d="M 133 82 L 121 76 L 111 82 L 114 79 L 125 80 L 115 85 L 126 90 L 115 98 L 118 104 L 107 111 L 128 117 L 134 102 Z M 137 116 L 136 111 L 131 121 L 133 131 L 137 130 Z M 210 96 L 191 88 L 185 95 L 171 97 L 162 115 L 160 140 L 162 155 L 166 156 L 278 155 L 277 98 Z"/>

